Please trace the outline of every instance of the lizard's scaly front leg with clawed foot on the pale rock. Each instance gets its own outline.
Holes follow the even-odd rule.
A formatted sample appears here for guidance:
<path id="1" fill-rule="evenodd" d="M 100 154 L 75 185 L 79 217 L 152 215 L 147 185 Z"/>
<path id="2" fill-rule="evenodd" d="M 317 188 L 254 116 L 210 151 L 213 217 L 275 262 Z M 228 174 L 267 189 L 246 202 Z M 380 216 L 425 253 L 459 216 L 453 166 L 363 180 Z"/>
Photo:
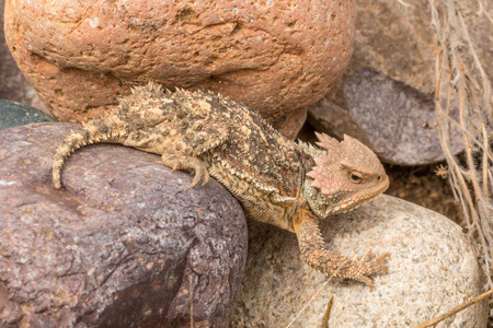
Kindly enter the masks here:
<path id="1" fill-rule="evenodd" d="M 333 254 L 326 249 L 318 221 L 310 210 L 300 210 L 294 220 L 299 248 L 308 265 L 329 277 L 353 279 L 371 289 L 372 281 L 369 276 L 379 271 L 387 272 L 385 261 L 390 254 L 372 257 L 371 251 L 367 251 L 362 259 L 355 260 Z"/>

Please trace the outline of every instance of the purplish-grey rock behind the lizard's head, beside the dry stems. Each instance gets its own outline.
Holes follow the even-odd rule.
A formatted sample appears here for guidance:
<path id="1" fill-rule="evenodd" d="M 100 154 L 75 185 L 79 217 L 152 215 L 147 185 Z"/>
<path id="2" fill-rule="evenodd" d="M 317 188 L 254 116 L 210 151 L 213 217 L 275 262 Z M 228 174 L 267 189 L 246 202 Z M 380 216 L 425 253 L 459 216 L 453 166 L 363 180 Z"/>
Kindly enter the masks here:
<path id="1" fill-rule="evenodd" d="M 433 128 L 432 95 L 366 69 L 345 80 L 342 95 L 343 106 L 328 99 L 312 105 L 310 124 L 362 140 L 387 163 L 422 165 L 445 159 Z M 455 127 L 450 136 L 450 151 L 457 154 L 463 150 L 460 130 Z"/>

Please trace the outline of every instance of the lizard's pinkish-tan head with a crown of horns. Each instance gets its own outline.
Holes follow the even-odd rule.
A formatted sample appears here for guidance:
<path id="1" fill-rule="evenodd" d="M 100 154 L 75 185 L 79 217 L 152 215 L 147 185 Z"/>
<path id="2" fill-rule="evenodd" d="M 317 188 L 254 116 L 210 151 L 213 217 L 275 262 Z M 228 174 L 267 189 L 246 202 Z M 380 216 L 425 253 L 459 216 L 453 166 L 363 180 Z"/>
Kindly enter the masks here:
<path id="1" fill-rule="evenodd" d="M 320 156 L 307 174 L 306 199 L 320 216 L 355 209 L 389 187 L 389 177 L 377 155 L 349 136 L 339 142 L 324 133 L 317 133 Z"/>

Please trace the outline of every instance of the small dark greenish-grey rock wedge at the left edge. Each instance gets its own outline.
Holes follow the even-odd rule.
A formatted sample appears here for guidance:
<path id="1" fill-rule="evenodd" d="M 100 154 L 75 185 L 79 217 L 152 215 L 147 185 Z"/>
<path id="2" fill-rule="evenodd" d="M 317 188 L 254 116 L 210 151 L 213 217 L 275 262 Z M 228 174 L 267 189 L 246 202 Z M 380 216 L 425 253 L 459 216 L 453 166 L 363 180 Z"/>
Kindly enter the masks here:
<path id="1" fill-rule="evenodd" d="M 0 130 L 32 122 L 55 121 L 55 118 L 36 108 L 0 99 Z"/>

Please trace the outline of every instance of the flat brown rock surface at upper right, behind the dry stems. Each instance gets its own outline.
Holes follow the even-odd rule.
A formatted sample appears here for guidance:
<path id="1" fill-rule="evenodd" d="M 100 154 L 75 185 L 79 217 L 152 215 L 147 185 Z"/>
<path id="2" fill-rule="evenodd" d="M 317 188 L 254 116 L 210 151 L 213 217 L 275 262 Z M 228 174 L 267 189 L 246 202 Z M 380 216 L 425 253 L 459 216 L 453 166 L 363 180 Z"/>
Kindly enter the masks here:
<path id="1" fill-rule="evenodd" d="M 457 1 L 478 56 L 493 79 L 492 1 Z M 409 3 L 403 5 L 401 3 Z M 439 11 L 445 1 L 435 1 Z M 480 8 L 481 3 L 481 8 Z M 425 94 L 435 91 L 436 32 L 427 0 L 356 0 L 354 54 L 347 75 L 368 68 Z M 488 27 L 488 28 L 485 28 Z"/>

